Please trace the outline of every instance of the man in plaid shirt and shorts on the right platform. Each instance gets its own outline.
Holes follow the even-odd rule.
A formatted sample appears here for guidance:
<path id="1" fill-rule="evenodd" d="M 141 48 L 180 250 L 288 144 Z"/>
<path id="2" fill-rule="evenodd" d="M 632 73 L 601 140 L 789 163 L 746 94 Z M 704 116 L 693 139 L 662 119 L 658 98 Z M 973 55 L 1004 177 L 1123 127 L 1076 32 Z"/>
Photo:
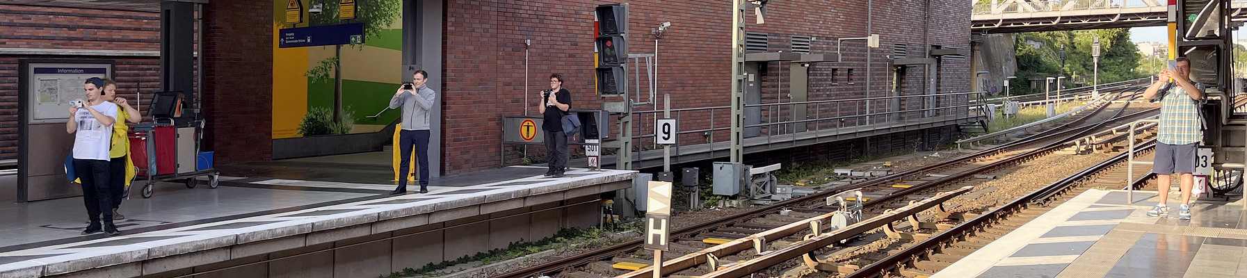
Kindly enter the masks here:
<path id="1" fill-rule="evenodd" d="M 1195 183 L 1196 150 L 1203 132 L 1200 130 L 1200 106 L 1203 98 L 1203 84 L 1191 81 L 1191 60 L 1178 57 L 1173 71 L 1162 70 L 1160 77 L 1147 91 L 1143 98 L 1161 101 L 1160 131 L 1156 136 L 1156 161 L 1152 165 L 1160 203 L 1156 204 L 1147 216 L 1166 216 L 1168 207 L 1170 175 L 1181 175 L 1182 207 L 1177 209 L 1180 219 L 1191 219 L 1191 186 Z M 1173 80 L 1168 90 L 1161 87 Z M 1157 93 L 1158 92 L 1158 93 Z"/>

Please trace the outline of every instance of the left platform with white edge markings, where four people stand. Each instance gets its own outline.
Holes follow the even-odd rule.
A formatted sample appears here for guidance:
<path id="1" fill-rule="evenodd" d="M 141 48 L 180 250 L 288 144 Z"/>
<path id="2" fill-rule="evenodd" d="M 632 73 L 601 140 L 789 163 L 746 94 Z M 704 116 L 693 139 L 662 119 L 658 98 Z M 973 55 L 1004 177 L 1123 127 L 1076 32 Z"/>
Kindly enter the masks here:
<path id="1" fill-rule="evenodd" d="M 340 176 L 333 171 L 350 171 L 325 170 L 284 168 L 292 175 L 334 178 Z M 302 253 L 301 248 L 324 246 L 333 251 L 318 253 L 329 254 L 327 259 L 314 259 L 324 256 L 287 259 L 296 264 L 273 261 L 262 264 L 266 271 L 252 274 L 271 277 L 272 269 L 272 273 L 294 276 L 298 272 L 278 268 L 297 266 L 293 268 L 328 267 L 330 273 L 369 271 L 334 277 L 377 277 L 404 267 L 418 268 L 428 262 L 506 247 L 515 241 L 549 237 L 559 228 L 594 226 L 599 221 L 594 213 L 600 211 L 596 202 L 600 193 L 630 188 L 636 177 L 635 171 L 570 170 L 564 178 L 542 178 L 542 173 L 545 167 L 514 166 L 449 176 L 430 181 L 435 186 L 430 186 L 426 194 L 397 197 L 387 194 L 394 187 L 389 182 L 294 180 L 289 175 L 222 181 L 216 189 L 203 185 L 186 188 L 180 183 L 162 183 L 157 185 L 157 194 L 152 198 L 135 197 L 122 203 L 120 212 L 127 219 L 117 222 L 123 233 L 118 237 L 79 236 L 86 226 L 81 198 L 0 204 L 0 238 L 4 238 L 0 242 L 0 277 L 147 276 L 239 259 L 274 259 L 277 257 L 269 256 L 274 252 L 294 254 Z M 436 243 L 438 252 L 434 256 L 430 247 L 400 241 L 404 237 L 419 238 L 424 244 Z M 380 243 L 387 243 L 385 248 L 379 248 Z M 359 253 L 377 249 L 385 252 L 384 258 Z M 342 259 L 343 256 L 372 264 L 360 267 L 359 262 Z M 357 264 L 334 269 L 343 263 Z M 231 272 L 203 277 L 237 277 Z"/>

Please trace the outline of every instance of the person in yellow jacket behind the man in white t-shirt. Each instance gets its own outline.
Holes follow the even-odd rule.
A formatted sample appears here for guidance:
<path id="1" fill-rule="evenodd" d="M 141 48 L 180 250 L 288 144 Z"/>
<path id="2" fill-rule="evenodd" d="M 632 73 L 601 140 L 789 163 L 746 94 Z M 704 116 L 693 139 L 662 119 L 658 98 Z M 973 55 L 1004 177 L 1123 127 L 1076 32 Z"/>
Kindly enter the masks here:
<path id="1" fill-rule="evenodd" d="M 105 100 L 112 100 L 112 103 L 117 103 L 117 120 L 112 123 L 112 148 L 108 150 L 108 170 L 110 180 L 108 191 L 112 193 L 112 218 L 125 219 L 125 216 L 117 213 L 117 207 L 121 206 L 121 196 L 130 188 L 130 181 L 135 178 L 137 170 L 135 168 L 135 162 L 130 160 L 130 126 L 126 122 L 138 123 L 142 120 L 142 115 L 138 110 L 131 107 L 125 97 L 117 96 L 117 82 L 110 79 L 104 80 L 104 97 Z"/>

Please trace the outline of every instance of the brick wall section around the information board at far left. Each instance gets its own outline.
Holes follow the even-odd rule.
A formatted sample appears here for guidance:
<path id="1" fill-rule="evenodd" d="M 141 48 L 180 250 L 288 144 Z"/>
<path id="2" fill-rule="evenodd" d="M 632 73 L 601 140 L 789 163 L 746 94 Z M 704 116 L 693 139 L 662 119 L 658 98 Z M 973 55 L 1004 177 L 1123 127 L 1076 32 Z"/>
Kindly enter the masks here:
<path id="1" fill-rule="evenodd" d="M 160 50 L 160 14 L 0 5 L 0 49 Z M 158 56 L 0 55 L 0 160 L 17 158 L 19 61 L 111 60 L 118 95 L 160 90 Z M 143 95 L 148 103 L 150 95 Z"/>

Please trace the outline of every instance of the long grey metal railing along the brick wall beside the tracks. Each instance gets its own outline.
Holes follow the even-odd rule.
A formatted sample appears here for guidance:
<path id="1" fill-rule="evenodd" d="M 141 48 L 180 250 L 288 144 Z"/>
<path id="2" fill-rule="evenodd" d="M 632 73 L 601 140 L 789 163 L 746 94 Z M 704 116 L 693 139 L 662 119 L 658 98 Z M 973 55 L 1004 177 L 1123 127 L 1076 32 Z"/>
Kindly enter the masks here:
<path id="1" fill-rule="evenodd" d="M 939 95 L 917 96 L 888 96 L 869 98 L 847 100 L 822 100 L 746 105 L 746 110 L 757 108 L 758 123 L 746 125 L 746 130 L 756 130 L 758 136 L 767 136 L 767 143 L 774 143 L 776 136 L 796 136 L 802 132 L 814 132 L 813 136 L 833 136 L 843 133 L 847 127 L 870 127 L 879 125 L 908 123 L 913 121 L 950 121 L 985 116 L 983 108 L 974 108 L 981 105 L 971 103 L 970 100 L 981 100 L 985 92 L 951 92 Z M 799 110 L 806 110 L 806 118 L 799 118 Z M 710 145 L 708 151 L 715 151 L 715 146 L 728 145 L 728 138 L 716 140 L 718 136 L 727 136 L 731 131 L 731 106 L 712 106 L 696 108 L 672 108 L 672 118 L 681 127 L 676 132 L 677 143 L 673 146 L 672 156 L 683 155 L 681 145 L 687 140 L 695 140 L 701 135 L 702 141 Z M 661 118 L 662 110 L 633 111 L 637 123 L 632 136 L 637 143 L 635 146 L 647 146 L 651 142 L 640 140 L 653 138 L 653 123 Z M 648 123 L 648 125 L 646 125 Z M 685 130 L 682 127 L 696 126 L 698 128 Z M 831 133 L 824 133 L 831 132 Z M 783 140 L 781 142 L 789 142 Z M 633 150 L 635 151 L 635 150 Z M 636 156 L 636 158 L 641 158 Z"/>

